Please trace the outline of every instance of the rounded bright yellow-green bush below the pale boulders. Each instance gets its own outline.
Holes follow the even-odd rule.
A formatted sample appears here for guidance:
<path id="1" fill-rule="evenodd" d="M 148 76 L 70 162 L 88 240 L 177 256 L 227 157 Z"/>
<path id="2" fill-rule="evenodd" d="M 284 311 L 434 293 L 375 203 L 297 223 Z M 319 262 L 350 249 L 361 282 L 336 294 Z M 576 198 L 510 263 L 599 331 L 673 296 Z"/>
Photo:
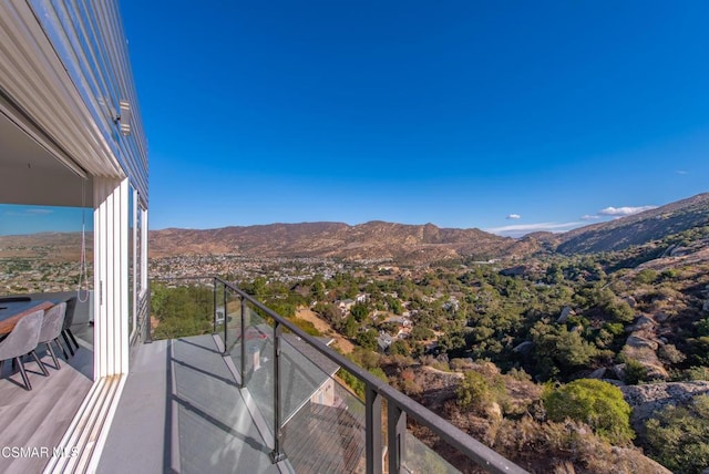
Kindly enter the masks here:
<path id="1" fill-rule="evenodd" d="M 542 395 L 552 421 L 572 419 L 586 423 L 610 443 L 625 445 L 635 437 L 630 427 L 630 405 L 623 392 L 600 380 L 579 379 L 556 390 L 547 388 Z"/>

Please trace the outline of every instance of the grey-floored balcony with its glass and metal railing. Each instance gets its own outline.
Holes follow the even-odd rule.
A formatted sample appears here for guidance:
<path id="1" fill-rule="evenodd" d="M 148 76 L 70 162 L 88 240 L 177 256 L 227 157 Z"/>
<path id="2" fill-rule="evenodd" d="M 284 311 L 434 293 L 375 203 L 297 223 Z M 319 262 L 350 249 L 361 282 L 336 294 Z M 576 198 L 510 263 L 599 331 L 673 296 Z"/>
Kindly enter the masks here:
<path id="1" fill-rule="evenodd" d="M 230 284 L 168 286 L 196 289 L 204 333 L 134 349 L 97 472 L 524 472 Z"/>

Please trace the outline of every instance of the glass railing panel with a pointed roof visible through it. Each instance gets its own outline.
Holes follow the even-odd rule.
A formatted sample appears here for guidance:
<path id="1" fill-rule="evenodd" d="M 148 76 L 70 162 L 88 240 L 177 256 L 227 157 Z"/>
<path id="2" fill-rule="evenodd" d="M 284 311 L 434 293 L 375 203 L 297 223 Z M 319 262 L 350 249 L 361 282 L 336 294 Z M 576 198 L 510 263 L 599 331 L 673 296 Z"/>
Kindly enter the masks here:
<path id="1" fill-rule="evenodd" d="M 291 333 L 281 340 L 282 450 L 296 472 L 364 472 L 364 403 L 339 367 Z"/>

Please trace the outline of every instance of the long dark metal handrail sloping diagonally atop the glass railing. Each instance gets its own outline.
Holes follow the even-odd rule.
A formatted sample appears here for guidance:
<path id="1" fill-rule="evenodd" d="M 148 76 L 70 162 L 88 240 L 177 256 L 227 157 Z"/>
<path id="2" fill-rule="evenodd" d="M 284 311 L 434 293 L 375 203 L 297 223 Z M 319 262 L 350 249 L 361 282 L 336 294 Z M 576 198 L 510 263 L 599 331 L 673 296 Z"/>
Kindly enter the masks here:
<path id="1" fill-rule="evenodd" d="M 373 398 L 377 394 L 383 396 L 387 400 L 387 402 L 390 404 L 389 405 L 390 416 L 392 415 L 393 412 L 397 412 L 397 411 L 404 413 L 405 415 L 410 415 L 411 418 L 417 420 L 419 423 L 423 424 L 424 426 L 428 426 L 433 433 L 439 435 L 442 440 L 448 442 L 451 446 L 455 447 L 461 453 L 465 454 L 469 458 L 473 460 L 476 464 L 487 470 L 489 472 L 526 473 L 525 470 L 523 470 L 512 461 L 502 456 L 494 450 L 485 446 L 480 441 L 475 440 L 474 437 L 463 432 L 459 427 L 454 426 L 453 424 L 451 424 L 443 418 L 439 416 L 438 414 L 433 413 L 431 410 L 427 409 L 425 406 L 421 405 L 420 403 L 415 402 L 414 400 L 410 399 L 409 396 L 393 389 L 384 381 L 372 375 L 366 369 L 357 365 L 354 362 L 350 361 L 349 359 L 345 358 L 343 356 L 328 348 L 321 341 L 312 338 L 311 336 L 306 333 L 304 330 L 298 328 L 292 322 L 288 321 L 277 312 L 273 311 L 270 308 L 267 308 L 266 306 L 264 306 L 260 301 L 258 301 L 250 295 L 244 292 L 239 288 L 235 287 L 228 281 L 225 281 L 218 277 L 214 277 L 214 280 L 215 280 L 215 288 L 216 288 L 217 281 L 224 285 L 225 287 L 228 287 L 232 291 L 239 295 L 243 298 L 243 301 L 250 302 L 256 308 L 258 308 L 259 310 L 268 315 L 270 318 L 273 318 L 276 326 L 282 324 L 282 327 L 288 328 L 288 330 L 290 330 L 301 340 L 304 340 L 305 342 L 310 344 L 312 348 L 318 350 L 318 352 L 320 352 L 322 356 L 327 357 L 338 365 L 345 368 L 352 375 L 357 377 L 359 380 L 364 382 L 366 390 L 368 391 L 368 400 L 373 400 Z M 242 330 L 244 330 L 243 327 L 242 327 Z M 395 408 L 397 410 L 392 410 L 391 409 L 392 406 Z M 370 420 L 368 420 L 368 423 L 369 422 Z M 401 422 L 395 422 L 394 424 L 401 425 Z M 391 431 L 390 431 L 390 435 L 391 435 Z M 380 440 L 378 440 L 378 442 L 380 442 Z M 391 439 L 390 439 L 390 444 L 391 444 Z M 276 453 L 276 454 L 279 454 L 279 453 Z M 368 456 L 371 453 L 368 453 Z M 390 456 L 391 454 L 392 453 L 390 451 Z M 400 453 L 397 453 L 397 454 L 400 454 Z M 399 466 L 398 461 L 399 460 L 391 460 L 390 457 L 390 472 L 398 471 L 398 468 L 394 468 L 394 470 L 391 468 L 392 466 L 394 467 Z M 370 464 L 368 462 L 368 471 L 369 470 L 372 470 L 373 472 L 381 472 L 381 466 L 377 466 L 377 463 Z"/>

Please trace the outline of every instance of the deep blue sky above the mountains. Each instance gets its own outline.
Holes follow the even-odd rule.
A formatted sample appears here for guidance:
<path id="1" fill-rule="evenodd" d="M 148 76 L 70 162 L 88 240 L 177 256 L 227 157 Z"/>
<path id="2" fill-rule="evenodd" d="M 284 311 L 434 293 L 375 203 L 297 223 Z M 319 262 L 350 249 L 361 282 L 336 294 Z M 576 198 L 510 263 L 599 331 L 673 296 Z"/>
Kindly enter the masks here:
<path id="1" fill-rule="evenodd" d="M 518 235 L 709 190 L 706 1 L 121 4 L 153 229 Z"/>

